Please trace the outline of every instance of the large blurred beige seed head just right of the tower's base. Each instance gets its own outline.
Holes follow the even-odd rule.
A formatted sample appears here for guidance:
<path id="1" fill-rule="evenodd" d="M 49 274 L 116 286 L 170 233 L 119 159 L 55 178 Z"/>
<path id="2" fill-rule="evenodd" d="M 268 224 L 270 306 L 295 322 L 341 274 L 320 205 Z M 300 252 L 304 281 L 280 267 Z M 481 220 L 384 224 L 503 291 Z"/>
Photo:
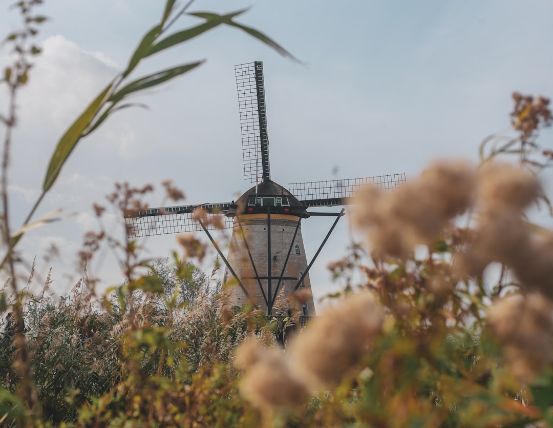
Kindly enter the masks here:
<path id="1" fill-rule="evenodd" d="M 334 388 L 359 363 L 383 321 L 384 312 L 371 293 L 348 295 L 291 344 L 296 372 L 310 388 Z"/>

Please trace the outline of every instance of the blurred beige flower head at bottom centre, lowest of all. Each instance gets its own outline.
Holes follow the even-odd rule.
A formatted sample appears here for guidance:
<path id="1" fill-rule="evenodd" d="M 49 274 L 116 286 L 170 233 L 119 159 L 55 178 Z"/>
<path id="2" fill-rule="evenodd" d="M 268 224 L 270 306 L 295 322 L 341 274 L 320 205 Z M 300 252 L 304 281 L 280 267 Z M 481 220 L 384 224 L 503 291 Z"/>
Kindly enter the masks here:
<path id="1" fill-rule="evenodd" d="M 234 364 L 245 371 L 241 393 L 263 412 L 305 403 L 306 387 L 290 370 L 281 350 L 263 348 L 250 339 L 237 349 Z"/>

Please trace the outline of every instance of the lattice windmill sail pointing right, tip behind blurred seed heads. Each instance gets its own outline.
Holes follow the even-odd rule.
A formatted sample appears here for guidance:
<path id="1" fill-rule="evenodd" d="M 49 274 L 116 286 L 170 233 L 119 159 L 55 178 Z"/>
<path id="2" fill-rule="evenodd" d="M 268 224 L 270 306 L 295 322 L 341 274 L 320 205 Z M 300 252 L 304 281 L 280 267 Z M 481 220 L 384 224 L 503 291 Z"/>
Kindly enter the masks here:
<path id="1" fill-rule="evenodd" d="M 334 207 L 350 203 L 356 190 L 363 186 L 374 185 L 389 192 L 403 184 L 405 184 L 405 174 L 401 173 L 345 180 L 290 183 L 288 190 L 306 207 Z"/>

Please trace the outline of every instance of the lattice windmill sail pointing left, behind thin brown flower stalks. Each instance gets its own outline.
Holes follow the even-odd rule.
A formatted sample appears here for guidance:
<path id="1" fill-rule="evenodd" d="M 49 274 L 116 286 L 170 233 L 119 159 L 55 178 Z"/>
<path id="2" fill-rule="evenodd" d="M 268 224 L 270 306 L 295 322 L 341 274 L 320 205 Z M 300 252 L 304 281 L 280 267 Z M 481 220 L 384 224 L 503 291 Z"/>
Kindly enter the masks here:
<path id="1" fill-rule="evenodd" d="M 203 230 L 202 225 L 193 216 L 194 211 L 198 208 L 206 212 L 205 218 L 202 220 L 206 229 L 232 228 L 232 219 L 225 216 L 231 205 L 231 203 L 225 202 L 145 210 L 129 209 L 124 212 L 127 236 L 142 238 L 143 236 L 201 231 Z"/>

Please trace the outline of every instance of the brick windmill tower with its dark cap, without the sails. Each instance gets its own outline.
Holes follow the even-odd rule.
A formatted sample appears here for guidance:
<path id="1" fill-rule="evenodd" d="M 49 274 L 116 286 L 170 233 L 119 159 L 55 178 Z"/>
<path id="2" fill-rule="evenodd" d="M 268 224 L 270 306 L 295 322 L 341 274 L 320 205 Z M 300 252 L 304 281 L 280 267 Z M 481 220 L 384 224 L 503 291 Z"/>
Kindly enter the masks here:
<path id="1" fill-rule="evenodd" d="M 304 298 L 301 306 L 294 309 L 302 316 L 314 316 L 301 235 L 301 219 L 310 216 L 304 205 L 284 187 L 269 180 L 244 193 L 236 201 L 236 208 L 229 209 L 226 215 L 233 218 L 228 265 L 236 266 L 235 274 L 246 289 L 232 288 L 232 304 L 242 306 L 251 299 L 268 311 L 269 306 L 290 296 L 299 283 L 298 289 L 309 291 L 307 295 L 311 297 Z M 232 281 L 226 267 L 223 286 L 229 277 Z"/>

